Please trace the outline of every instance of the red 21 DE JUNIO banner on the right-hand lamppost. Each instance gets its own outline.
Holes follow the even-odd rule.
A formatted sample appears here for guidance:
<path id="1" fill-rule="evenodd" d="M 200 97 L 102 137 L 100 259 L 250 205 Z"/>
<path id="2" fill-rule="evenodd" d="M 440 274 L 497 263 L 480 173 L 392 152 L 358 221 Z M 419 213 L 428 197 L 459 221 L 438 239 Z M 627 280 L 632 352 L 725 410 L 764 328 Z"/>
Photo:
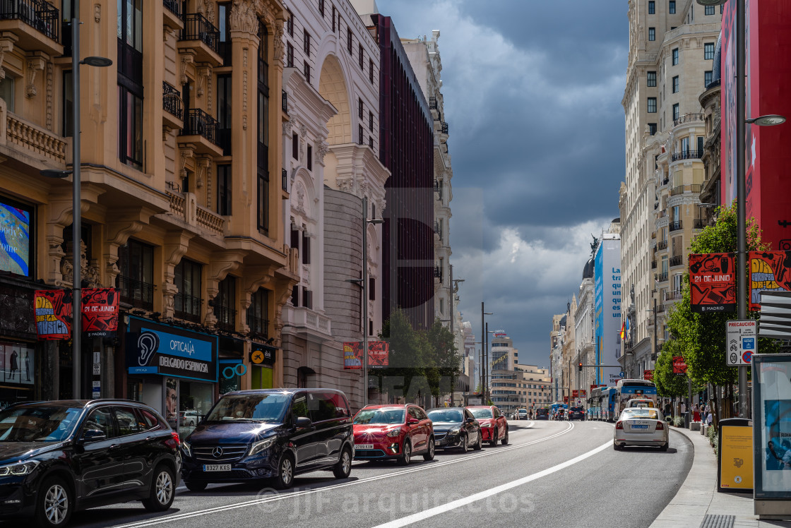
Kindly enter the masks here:
<path id="1" fill-rule="evenodd" d="M 736 311 L 736 273 L 732 253 L 691 254 L 690 293 L 692 311 Z"/>

